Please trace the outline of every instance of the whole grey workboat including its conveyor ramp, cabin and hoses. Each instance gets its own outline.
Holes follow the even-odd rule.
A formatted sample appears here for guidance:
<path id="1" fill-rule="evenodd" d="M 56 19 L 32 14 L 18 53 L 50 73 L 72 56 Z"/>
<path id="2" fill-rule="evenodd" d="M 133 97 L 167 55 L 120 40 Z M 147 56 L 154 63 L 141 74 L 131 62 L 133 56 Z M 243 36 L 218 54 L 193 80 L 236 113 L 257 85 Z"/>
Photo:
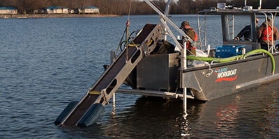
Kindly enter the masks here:
<path id="1" fill-rule="evenodd" d="M 187 116 L 187 99 L 211 101 L 279 79 L 276 44 L 271 42 L 268 49 L 261 49 L 256 28 L 257 18 L 274 21 L 279 10 L 262 9 L 261 4 L 253 9 L 246 4 L 243 8 L 235 8 L 218 3 L 217 8 L 197 13 L 199 39 L 194 41 L 169 17 L 172 0 L 167 1 L 164 13 L 151 1 L 144 1 L 158 13 L 160 22 L 146 24 L 140 31 L 129 34 L 128 21 L 126 33 L 120 41 L 123 43 L 119 43 L 123 46 L 121 52 L 108 54 L 111 64 L 104 66 L 105 72 L 80 101 L 71 101 L 66 106 L 54 124 L 95 124 L 103 115 L 104 106 L 110 103 L 110 99 L 114 100 L 116 92 L 183 99 Z M 222 43 L 214 47 L 208 40 L 215 32 L 207 31 L 206 26 L 210 16 L 220 17 L 223 36 L 220 38 Z M 234 40 L 237 31 L 247 24 L 251 26 L 251 38 Z M 183 36 L 182 43 L 174 31 Z M 196 47 L 196 55 L 187 55 L 188 50 L 183 49 L 187 41 Z M 123 83 L 130 88 L 120 88 Z"/>

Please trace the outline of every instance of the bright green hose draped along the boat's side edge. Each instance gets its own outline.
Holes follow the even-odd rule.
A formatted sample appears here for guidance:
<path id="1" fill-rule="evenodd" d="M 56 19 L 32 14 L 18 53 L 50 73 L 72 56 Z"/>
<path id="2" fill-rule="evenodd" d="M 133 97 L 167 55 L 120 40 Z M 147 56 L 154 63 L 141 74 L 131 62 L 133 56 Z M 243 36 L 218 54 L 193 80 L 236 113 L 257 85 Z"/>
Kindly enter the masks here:
<path id="1" fill-rule="evenodd" d="M 206 62 L 227 63 L 227 62 L 233 61 L 233 60 L 244 59 L 250 55 L 258 54 L 258 53 L 264 53 L 264 54 L 269 55 L 269 58 L 271 59 L 271 64 L 272 64 L 271 74 L 274 74 L 275 60 L 273 58 L 273 55 L 269 51 L 266 51 L 265 49 L 255 49 L 255 50 L 249 51 L 246 54 L 239 55 L 239 56 L 232 56 L 229 58 L 208 58 L 208 57 L 199 57 L 199 56 L 192 56 L 192 55 L 187 56 L 186 58 L 188 60 L 200 60 L 200 61 L 206 61 Z"/>

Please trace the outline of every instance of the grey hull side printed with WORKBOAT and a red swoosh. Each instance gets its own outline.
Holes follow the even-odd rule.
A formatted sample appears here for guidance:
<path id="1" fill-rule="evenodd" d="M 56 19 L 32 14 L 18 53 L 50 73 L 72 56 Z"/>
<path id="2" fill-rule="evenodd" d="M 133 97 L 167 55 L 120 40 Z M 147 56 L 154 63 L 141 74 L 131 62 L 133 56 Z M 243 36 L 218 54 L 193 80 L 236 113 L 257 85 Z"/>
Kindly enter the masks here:
<path id="1" fill-rule="evenodd" d="M 279 54 L 273 54 L 275 61 Z M 180 88 L 190 88 L 195 99 L 212 100 L 279 78 L 279 66 L 269 56 L 253 56 L 228 63 L 180 70 Z"/>

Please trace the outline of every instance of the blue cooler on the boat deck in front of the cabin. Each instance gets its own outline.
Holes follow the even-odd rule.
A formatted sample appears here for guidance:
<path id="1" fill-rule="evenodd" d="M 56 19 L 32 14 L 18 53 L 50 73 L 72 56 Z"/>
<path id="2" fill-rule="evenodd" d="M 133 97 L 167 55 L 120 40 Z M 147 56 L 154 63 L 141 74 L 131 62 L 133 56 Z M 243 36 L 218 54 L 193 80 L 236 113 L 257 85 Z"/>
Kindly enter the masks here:
<path id="1" fill-rule="evenodd" d="M 245 45 L 222 45 L 215 48 L 216 58 L 228 58 L 231 56 L 241 55 Z"/>

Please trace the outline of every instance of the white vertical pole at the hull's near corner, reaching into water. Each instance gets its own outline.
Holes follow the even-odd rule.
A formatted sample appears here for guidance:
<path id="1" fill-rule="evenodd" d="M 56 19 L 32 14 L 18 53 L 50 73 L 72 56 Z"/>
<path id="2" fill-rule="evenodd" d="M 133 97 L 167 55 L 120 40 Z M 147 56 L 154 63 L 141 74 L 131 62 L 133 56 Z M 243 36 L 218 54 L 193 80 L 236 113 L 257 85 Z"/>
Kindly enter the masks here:
<path id="1" fill-rule="evenodd" d="M 187 69 L 187 49 L 186 49 L 187 42 L 185 39 L 183 40 L 183 51 L 182 51 L 182 58 L 181 58 L 181 67 L 183 70 Z M 184 80 L 184 76 L 182 74 L 182 80 Z M 183 88 L 183 111 L 184 117 L 187 116 L 187 88 Z"/>

